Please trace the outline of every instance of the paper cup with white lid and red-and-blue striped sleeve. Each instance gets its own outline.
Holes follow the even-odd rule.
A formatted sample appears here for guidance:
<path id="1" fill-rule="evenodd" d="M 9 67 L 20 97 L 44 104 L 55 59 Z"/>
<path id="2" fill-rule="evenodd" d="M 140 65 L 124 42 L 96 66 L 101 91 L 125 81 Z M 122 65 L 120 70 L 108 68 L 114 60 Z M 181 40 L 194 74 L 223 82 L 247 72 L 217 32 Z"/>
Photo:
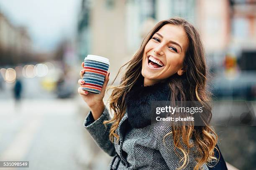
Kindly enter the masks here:
<path id="1" fill-rule="evenodd" d="M 109 69 L 108 58 L 98 55 L 87 55 L 84 58 L 84 84 L 83 90 L 99 94 L 105 81 L 105 76 Z"/>

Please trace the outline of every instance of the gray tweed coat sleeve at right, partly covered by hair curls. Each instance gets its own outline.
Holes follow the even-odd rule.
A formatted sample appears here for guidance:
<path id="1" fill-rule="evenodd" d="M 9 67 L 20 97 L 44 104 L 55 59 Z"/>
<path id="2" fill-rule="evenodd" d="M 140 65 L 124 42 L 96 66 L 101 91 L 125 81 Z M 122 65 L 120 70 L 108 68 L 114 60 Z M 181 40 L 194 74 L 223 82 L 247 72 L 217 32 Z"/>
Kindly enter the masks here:
<path id="1" fill-rule="evenodd" d="M 161 153 L 162 158 L 166 162 L 169 169 L 176 169 L 181 167 L 183 161 L 180 162 L 181 155 L 183 157 L 183 153 L 177 148 L 176 151 L 174 150 L 174 139 L 172 135 L 172 128 L 168 125 L 163 125 L 160 123 L 157 123 L 157 125 L 154 126 L 154 133 L 156 135 L 156 141 L 157 141 L 157 148 L 159 152 Z M 170 133 L 169 135 L 166 135 Z M 164 138 L 164 136 L 166 137 Z M 181 139 L 182 140 L 182 139 Z M 190 141 L 192 142 L 192 140 Z M 185 146 L 184 144 L 182 144 Z M 194 147 L 192 150 L 195 149 Z M 193 170 L 194 167 L 197 164 L 197 161 L 195 160 L 195 154 L 189 153 L 189 160 L 188 160 L 187 166 L 185 166 L 182 170 Z M 207 168 L 207 165 L 204 164 L 202 166 L 202 170 L 209 170 Z"/>

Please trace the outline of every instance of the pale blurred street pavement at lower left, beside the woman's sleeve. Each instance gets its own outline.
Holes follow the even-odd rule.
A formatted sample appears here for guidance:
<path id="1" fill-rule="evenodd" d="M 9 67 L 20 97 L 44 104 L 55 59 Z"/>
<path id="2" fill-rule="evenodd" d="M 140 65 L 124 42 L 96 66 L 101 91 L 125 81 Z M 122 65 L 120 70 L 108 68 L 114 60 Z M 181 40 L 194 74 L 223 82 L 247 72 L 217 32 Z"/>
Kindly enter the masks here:
<path id="1" fill-rule="evenodd" d="M 1 100 L 0 160 L 29 161 L 31 170 L 105 169 L 106 154 L 86 141 L 91 140 L 83 127 L 87 112 L 79 114 L 78 106 L 73 99 L 23 100 L 17 107 Z M 105 158 L 100 164 L 89 165 L 90 147 Z"/>

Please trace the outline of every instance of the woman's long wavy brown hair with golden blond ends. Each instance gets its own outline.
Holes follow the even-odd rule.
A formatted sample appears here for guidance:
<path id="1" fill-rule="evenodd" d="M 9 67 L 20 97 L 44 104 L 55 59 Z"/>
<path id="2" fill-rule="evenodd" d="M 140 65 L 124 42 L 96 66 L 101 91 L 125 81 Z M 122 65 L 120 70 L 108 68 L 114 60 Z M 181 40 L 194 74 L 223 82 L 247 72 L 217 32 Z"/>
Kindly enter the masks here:
<path id="1" fill-rule="evenodd" d="M 204 163 L 209 163 L 212 160 L 217 160 L 214 156 L 214 148 L 217 143 L 217 135 L 214 130 L 210 127 L 210 120 L 212 117 L 211 109 L 212 106 L 209 104 L 210 92 L 206 88 L 207 81 L 207 65 L 205 61 L 205 51 L 200 38 L 200 34 L 197 29 L 182 18 L 170 18 L 168 20 L 160 21 L 155 25 L 155 27 L 146 35 L 141 47 L 135 53 L 133 58 L 121 66 L 118 74 L 113 80 L 112 84 L 107 87 L 107 89 L 113 89 L 112 94 L 109 98 L 110 109 L 113 110 L 113 118 L 111 120 L 105 121 L 104 125 L 111 123 L 110 128 L 110 141 L 114 141 L 114 138 L 119 140 L 119 136 L 116 133 L 119 122 L 125 114 L 125 96 L 131 90 L 138 77 L 141 75 L 142 69 L 142 57 L 146 44 L 152 38 L 155 32 L 157 32 L 162 26 L 166 24 L 172 24 L 180 26 L 186 32 L 189 40 L 189 47 L 187 48 L 183 65 L 186 67 L 186 72 L 182 76 L 176 74 L 170 76 L 167 79 L 167 83 L 171 90 L 171 102 L 174 101 L 199 101 L 204 108 L 207 110 L 204 117 L 203 126 L 172 126 L 172 132 L 166 134 L 173 135 L 174 148 L 182 151 L 181 156 L 182 165 L 179 169 L 187 166 L 189 157 L 189 149 L 193 146 L 197 146 L 197 165 L 195 170 L 199 170 Z M 126 67 L 125 72 L 121 78 L 120 85 L 113 86 L 116 78 L 120 74 L 120 70 Z M 165 138 L 164 138 L 165 139 Z M 163 142 L 168 142 L 163 139 Z M 194 144 L 191 145 L 189 140 L 193 139 Z M 184 145 L 182 145 L 184 143 Z"/>

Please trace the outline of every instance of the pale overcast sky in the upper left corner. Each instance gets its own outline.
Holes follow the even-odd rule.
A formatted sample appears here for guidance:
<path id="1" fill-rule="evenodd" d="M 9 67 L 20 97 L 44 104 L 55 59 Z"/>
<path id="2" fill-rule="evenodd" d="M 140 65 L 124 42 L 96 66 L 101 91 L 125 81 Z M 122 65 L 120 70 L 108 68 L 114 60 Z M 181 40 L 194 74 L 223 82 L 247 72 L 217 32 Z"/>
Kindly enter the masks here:
<path id="1" fill-rule="evenodd" d="M 81 0 L 0 0 L 0 12 L 25 26 L 38 51 L 54 49 L 61 38 L 74 36 Z"/>

